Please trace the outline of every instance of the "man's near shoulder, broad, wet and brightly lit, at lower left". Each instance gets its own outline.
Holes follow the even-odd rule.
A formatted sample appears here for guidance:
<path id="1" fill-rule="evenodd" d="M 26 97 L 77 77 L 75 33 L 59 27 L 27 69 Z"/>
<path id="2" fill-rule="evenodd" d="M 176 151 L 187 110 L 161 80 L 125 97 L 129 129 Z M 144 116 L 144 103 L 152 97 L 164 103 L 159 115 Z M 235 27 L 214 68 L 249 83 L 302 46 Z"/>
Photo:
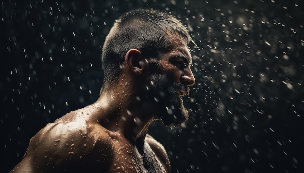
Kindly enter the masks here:
<path id="1" fill-rule="evenodd" d="M 108 169 L 112 159 L 109 136 L 98 123 L 79 118 L 76 114 L 69 113 L 41 129 L 30 140 L 23 160 L 13 171 L 78 172 L 84 168 Z"/>

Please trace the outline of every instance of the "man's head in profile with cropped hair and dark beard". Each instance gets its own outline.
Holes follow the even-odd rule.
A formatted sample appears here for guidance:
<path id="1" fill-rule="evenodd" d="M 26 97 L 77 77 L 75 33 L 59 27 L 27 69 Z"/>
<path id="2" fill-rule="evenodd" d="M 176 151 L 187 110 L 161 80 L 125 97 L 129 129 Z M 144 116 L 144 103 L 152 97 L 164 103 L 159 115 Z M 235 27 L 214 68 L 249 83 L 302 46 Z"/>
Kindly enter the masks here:
<path id="1" fill-rule="evenodd" d="M 149 69 L 144 82 L 138 84 L 138 90 L 142 91 L 140 101 L 157 109 L 156 118 L 165 125 L 180 125 L 188 117 L 181 96 L 195 82 L 190 70 L 189 40 L 185 26 L 167 13 L 139 9 L 122 15 L 103 46 L 103 88 L 118 84 L 125 62 L 130 69 L 140 66 L 139 63 L 133 66 L 130 59 L 140 55 L 145 69 Z"/>

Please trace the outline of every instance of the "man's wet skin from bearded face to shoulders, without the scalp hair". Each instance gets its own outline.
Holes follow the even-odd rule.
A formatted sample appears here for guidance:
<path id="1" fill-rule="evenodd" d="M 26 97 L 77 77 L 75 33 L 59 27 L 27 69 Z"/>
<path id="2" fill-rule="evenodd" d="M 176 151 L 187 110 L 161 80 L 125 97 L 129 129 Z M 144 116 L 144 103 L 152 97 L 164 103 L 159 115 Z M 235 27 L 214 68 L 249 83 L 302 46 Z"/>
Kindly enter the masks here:
<path id="1" fill-rule="evenodd" d="M 164 147 L 147 130 L 156 119 L 171 127 L 185 121 L 188 115 L 181 97 L 195 82 L 186 43 L 176 36 L 171 41 L 173 48 L 159 55 L 158 77 L 152 79 L 149 62 L 139 51 L 129 51 L 118 85 L 103 88 L 98 101 L 40 130 L 12 172 L 169 173 Z M 135 64 L 140 67 L 134 59 L 139 59 Z M 148 91 L 143 89 L 147 86 Z M 144 97 L 143 92 L 160 88 L 166 99 Z"/>

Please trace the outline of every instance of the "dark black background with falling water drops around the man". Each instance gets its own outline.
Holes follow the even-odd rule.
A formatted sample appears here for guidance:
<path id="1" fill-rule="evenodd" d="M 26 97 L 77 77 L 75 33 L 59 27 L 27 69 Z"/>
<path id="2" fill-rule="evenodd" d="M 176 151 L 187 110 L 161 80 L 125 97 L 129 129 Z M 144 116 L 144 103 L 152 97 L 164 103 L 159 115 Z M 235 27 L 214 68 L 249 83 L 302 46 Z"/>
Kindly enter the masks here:
<path id="1" fill-rule="evenodd" d="M 302 171 L 302 0 L 5 0 L 0 172 L 21 160 L 47 123 L 97 100 L 105 36 L 135 8 L 170 11 L 194 41 L 186 127 L 153 123 L 149 130 L 173 173 Z"/>

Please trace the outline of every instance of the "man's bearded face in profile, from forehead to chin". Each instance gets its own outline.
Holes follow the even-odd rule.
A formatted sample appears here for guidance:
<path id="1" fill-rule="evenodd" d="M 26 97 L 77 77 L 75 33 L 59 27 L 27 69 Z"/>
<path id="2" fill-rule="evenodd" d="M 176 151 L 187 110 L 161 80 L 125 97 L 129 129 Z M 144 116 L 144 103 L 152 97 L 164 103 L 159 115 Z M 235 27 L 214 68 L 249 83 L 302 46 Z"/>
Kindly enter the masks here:
<path id="1" fill-rule="evenodd" d="M 187 44 L 178 36 L 171 36 L 170 40 L 173 48 L 159 54 L 157 65 L 151 70 L 147 92 L 152 93 L 159 118 L 166 126 L 174 128 L 188 119 L 182 97 L 189 92 L 195 78 L 190 69 L 192 59 Z"/>

